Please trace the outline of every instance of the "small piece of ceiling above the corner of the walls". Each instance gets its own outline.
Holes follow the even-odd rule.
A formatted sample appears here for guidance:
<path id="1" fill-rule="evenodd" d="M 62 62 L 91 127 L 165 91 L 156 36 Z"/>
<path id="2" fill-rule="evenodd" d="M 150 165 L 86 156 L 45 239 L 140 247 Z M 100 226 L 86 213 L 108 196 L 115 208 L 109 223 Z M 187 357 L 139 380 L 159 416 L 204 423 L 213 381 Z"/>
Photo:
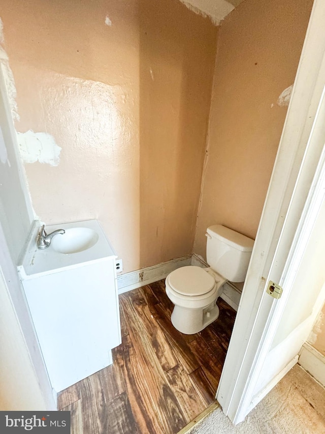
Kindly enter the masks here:
<path id="1" fill-rule="evenodd" d="M 243 0 L 180 0 L 192 11 L 208 16 L 216 25 L 220 24 Z"/>

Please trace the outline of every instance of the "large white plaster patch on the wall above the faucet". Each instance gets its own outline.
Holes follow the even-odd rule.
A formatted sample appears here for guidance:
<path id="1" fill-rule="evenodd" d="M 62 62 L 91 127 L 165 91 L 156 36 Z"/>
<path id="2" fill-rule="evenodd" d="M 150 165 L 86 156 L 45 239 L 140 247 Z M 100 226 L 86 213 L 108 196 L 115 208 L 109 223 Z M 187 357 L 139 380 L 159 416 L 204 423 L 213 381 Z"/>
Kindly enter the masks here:
<path id="1" fill-rule="evenodd" d="M 61 148 L 55 143 L 54 137 L 48 133 L 26 131 L 17 132 L 20 155 L 25 163 L 47 163 L 57 166 L 60 161 Z"/>

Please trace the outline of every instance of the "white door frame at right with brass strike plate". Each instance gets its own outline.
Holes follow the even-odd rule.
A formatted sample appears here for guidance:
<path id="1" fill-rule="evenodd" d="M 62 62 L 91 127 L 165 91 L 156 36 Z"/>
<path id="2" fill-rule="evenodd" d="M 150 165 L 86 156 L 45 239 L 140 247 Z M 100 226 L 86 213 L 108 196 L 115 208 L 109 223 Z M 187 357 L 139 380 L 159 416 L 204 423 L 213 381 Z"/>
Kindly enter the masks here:
<path id="1" fill-rule="evenodd" d="M 241 422 L 297 362 L 324 299 L 319 282 L 309 287 L 306 274 L 305 283 L 297 285 L 324 203 L 324 22 L 325 2 L 315 0 L 217 390 L 216 399 L 234 423 Z M 325 272 L 320 270 L 322 278 Z M 283 287 L 278 300 L 266 292 L 270 280 Z"/>

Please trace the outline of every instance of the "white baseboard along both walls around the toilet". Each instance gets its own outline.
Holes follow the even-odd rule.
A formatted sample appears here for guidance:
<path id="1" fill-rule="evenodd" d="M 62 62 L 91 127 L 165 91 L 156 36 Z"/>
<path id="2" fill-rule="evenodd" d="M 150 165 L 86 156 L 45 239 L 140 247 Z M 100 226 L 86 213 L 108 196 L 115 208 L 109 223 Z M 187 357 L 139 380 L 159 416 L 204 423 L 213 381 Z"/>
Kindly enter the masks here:
<path id="1" fill-rule="evenodd" d="M 194 265 L 202 268 L 209 267 L 201 256 L 193 253 L 192 255 L 182 256 L 177 259 L 172 259 L 171 261 L 153 265 L 152 267 L 124 273 L 117 276 L 118 294 L 136 290 L 141 286 L 149 285 L 160 279 L 165 279 L 169 273 L 177 268 L 185 267 L 186 265 Z M 241 291 L 234 284 L 226 282 L 223 285 L 223 292 L 220 297 L 233 309 L 238 310 Z"/>

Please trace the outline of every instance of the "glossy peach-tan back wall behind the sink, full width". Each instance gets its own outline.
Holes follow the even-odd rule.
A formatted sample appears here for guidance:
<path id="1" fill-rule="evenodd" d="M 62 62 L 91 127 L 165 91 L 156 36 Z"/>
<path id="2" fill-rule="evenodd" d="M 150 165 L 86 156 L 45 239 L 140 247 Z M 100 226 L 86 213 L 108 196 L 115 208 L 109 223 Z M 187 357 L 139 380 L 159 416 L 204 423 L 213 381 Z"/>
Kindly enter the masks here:
<path id="1" fill-rule="evenodd" d="M 62 148 L 57 166 L 25 165 L 39 217 L 98 218 L 124 271 L 191 253 L 216 28 L 178 0 L 4 0 L 0 13 L 16 129 Z"/>

